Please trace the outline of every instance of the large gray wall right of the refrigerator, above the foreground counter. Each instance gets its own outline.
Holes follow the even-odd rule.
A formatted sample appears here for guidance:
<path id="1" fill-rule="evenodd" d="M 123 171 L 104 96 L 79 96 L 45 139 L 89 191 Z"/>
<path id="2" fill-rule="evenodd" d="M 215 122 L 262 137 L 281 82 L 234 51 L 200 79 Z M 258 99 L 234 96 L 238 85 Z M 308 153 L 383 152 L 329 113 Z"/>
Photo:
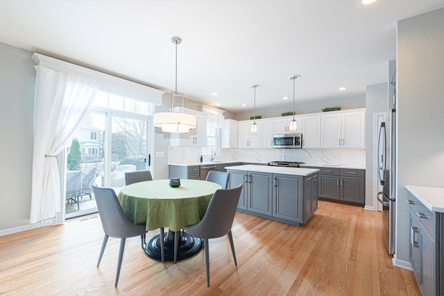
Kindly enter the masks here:
<path id="1" fill-rule="evenodd" d="M 406 184 L 444 186 L 444 8 L 398 22 L 396 259 L 409 261 Z"/>

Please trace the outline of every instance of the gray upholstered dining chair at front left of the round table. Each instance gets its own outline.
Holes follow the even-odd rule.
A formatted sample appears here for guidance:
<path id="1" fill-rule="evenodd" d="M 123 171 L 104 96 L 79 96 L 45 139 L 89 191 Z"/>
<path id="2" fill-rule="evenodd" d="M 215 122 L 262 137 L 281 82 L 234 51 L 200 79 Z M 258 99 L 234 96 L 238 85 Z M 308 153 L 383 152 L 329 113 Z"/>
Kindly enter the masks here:
<path id="1" fill-rule="evenodd" d="M 99 255 L 99 261 L 97 261 L 97 267 L 99 267 L 102 260 L 103 251 L 105 251 L 106 243 L 108 243 L 108 238 L 110 236 L 113 238 L 120 238 L 119 261 L 117 262 L 116 280 L 114 282 L 114 286 L 117 286 L 117 283 L 119 282 L 120 268 L 122 264 L 126 238 L 140 236 L 143 249 L 146 230 L 144 225 L 134 225 L 133 223 L 130 223 L 128 218 L 126 218 L 114 189 L 92 185 L 92 190 L 94 192 L 94 198 L 96 199 L 97 209 L 99 209 L 99 216 L 102 222 L 103 231 L 105 232 L 102 248 Z"/>

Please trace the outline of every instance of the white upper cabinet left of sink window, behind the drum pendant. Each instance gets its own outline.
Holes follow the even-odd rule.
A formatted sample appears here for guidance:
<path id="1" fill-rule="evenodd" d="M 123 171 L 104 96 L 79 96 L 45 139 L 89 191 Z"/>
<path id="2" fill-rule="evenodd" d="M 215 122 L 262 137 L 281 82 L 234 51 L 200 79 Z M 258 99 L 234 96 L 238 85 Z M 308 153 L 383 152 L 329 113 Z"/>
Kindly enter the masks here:
<path id="1" fill-rule="evenodd" d="M 207 117 L 196 115 L 196 128 L 182 134 L 171 133 L 170 146 L 203 147 L 207 142 Z"/>

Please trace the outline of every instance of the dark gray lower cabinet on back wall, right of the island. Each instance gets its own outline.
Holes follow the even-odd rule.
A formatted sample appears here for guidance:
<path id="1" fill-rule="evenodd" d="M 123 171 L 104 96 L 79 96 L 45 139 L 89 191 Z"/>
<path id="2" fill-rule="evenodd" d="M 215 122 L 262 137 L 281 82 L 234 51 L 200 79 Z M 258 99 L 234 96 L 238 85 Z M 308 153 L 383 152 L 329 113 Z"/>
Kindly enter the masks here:
<path id="1" fill-rule="evenodd" d="M 319 198 L 364 205 L 365 171 L 348 168 L 319 168 Z"/>

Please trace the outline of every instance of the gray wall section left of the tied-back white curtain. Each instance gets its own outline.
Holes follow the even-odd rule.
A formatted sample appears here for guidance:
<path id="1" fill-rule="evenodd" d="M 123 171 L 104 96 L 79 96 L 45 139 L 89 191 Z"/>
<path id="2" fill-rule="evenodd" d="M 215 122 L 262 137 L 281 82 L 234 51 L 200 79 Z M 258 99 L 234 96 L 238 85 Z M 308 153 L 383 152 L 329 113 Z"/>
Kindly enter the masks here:
<path id="1" fill-rule="evenodd" d="M 0 43 L 0 230 L 29 223 L 35 87 L 32 54 Z"/>

